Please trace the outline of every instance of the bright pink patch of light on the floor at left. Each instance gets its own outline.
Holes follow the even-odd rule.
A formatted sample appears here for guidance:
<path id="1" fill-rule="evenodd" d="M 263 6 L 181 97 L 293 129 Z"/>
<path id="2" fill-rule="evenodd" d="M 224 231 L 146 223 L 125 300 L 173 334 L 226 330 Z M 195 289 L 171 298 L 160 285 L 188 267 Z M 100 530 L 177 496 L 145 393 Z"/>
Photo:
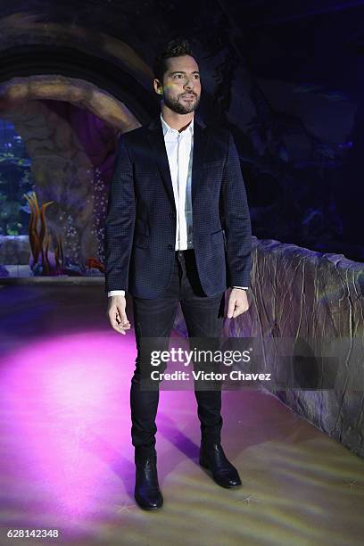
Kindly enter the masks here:
<path id="1" fill-rule="evenodd" d="M 2 362 L 0 411 L 10 444 L 1 462 L 17 474 L 9 496 L 28 483 L 58 517 L 107 509 L 114 473 L 123 475 L 121 487 L 120 464 L 132 470 L 125 407 L 135 358 L 134 333 L 111 331 L 55 335 Z"/>

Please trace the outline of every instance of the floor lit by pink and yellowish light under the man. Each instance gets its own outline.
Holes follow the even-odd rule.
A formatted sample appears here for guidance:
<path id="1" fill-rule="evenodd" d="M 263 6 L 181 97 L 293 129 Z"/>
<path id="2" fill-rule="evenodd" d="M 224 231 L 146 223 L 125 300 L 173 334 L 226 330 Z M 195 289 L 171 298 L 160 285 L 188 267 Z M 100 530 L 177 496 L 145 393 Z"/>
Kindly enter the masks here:
<path id="1" fill-rule="evenodd" d="M 364 461 L 257 390 L 223 392 L 233 491 L 198 465 L 194 393 L 161 391 L 164 506 L 139 509 L 134 332 L 109 327 L 103 286 L 0 286 L 0 301 L 0 544 L 363 544 Z"/>

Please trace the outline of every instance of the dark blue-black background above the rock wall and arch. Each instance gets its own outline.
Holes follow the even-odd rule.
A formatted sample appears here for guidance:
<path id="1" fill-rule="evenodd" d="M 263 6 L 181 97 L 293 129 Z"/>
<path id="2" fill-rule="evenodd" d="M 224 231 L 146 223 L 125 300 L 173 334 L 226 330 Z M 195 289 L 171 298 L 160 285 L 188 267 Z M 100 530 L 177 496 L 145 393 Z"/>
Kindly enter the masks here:
<path id="1" fill-rule="evenodd" d="M 115 38 L 152 66 L 167 39 L 187 37 L 199 114 L 235 136 L 253 235 L 364 261 L 363 23 L 364 2 L 3 1 L 0 85 L 85 79 L 145 123 L 159 111 L 152 81 L 95 51 Z"/>

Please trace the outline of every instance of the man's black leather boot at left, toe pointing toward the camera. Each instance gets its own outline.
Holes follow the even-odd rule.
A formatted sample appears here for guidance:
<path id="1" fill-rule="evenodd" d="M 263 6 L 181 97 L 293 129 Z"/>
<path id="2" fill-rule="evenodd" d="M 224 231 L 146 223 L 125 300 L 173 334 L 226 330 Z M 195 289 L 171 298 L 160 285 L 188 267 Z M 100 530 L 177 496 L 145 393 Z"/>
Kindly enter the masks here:
<path id="1" fill-rule="evenodd" d="M 157 453 L 155 449 L 140 453 L 136 449 L 136 488 L 134 496 L 140 508 L 161 508 L 163 497 L 158 484 Z"/>

